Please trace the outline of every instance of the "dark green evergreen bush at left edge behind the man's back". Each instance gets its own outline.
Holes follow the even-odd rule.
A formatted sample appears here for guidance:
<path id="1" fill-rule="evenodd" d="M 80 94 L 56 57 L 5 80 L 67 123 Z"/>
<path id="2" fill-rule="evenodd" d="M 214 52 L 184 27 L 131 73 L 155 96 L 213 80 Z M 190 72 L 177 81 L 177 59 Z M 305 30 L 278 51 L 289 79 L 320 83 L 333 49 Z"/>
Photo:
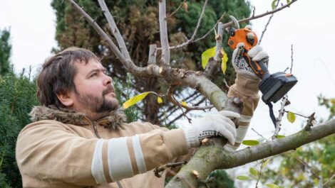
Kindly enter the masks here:
<path id="1" fill-rule="evenodd" d="M 0 79 L 0 104 L 0 187 L 22 187 L 15 145 L 19 131 L 29 123 L 32 106 L 38 104 L 35 84 L 23 74 L 9 72 Z"/>

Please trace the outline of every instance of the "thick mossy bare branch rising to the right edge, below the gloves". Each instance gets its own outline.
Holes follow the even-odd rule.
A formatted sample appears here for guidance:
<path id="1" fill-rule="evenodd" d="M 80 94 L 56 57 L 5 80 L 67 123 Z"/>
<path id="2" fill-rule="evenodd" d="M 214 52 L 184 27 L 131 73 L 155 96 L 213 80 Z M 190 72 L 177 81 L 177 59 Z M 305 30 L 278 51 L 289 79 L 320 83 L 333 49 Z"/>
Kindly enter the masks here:
<path id="1" fill-rule="evenodd" d="M 197 179 L 192 177 L 191 171 L 199 172 L 200 180 L 204 180 L 213 170 L 228 169 L 245 165 L 249 162 L 270 157 L 289 150 L 299 148 L 301 145 L 311 143 L 335 133 L 335 119 L 321 123 L 311 128 L 310 131 L 302 130 L 292 136 L 271 140 L 260 145 L 252 146 L 228 153 L 222 145 L 209 145 L 200 148 L 190 162 L 187 163 L 176 176 L 187 180 L 192 186 L 197 187 Z M 173 178 L 166 187 L 187 187 L 184 181 Z"/>

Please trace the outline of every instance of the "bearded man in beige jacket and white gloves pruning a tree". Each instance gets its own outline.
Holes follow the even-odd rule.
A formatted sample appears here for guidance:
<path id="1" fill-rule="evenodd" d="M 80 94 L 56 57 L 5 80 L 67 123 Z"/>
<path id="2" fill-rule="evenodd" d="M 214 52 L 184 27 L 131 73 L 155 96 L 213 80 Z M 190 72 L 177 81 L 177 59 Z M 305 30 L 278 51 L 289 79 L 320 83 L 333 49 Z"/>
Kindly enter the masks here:
<path id="1" fill-rule="evenodd" d="M 151 170 L 187 155 L 203 138 L 223 136 L 231 144 L 227 150 L 234 150 L 236 134 L 240 143 L 259 99 L 259 79 L 240 69 L 243 50 L 239 45 L 234 51 L 237 80 L 229 93 L 245 103 L 242 131 L 234 128 L 230 118 L 240 116 L 231 111 L 170 131 L 151 123 L 125 123 L 112 79 L 96 55 L 82 48 L 54 55 L 37 77 L 43 106 L 33 108 L 33 123 L 17 140 L 23 187 L 163 187 L 165 174 L 158 178 Z M 259 54 L 267 57 L 261 48 L 250 57 Z"/>

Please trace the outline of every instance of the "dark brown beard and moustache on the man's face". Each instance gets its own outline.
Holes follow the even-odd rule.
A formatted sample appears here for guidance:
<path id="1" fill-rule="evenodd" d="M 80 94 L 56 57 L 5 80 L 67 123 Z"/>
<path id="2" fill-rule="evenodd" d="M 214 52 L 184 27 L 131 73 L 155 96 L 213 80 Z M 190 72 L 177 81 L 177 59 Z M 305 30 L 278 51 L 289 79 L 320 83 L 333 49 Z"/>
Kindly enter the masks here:
<path id="1" fill-rule="evenodd" d="M 105 94 L 108 94 L 111 91 L 113 91 L 112 86 L 104 89 L 101 96 L 93 94 L 78 94 L 78 101 L 80 101 L 84 106 L 87 106 L 88 111 L 91 111 L 92 115 L 95 114 L 95 116 L 100 118 L 110 114 L 110 111 L 118 109 L 117 99 L 105 99 Z"/>

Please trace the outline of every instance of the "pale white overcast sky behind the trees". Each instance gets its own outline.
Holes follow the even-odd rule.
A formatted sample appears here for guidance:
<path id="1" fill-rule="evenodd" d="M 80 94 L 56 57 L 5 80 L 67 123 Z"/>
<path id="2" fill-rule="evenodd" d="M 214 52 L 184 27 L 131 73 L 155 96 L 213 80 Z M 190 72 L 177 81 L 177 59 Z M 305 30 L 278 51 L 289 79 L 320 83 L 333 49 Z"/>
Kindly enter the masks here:
<path id="1" fill-rule="evenodd" d="M 282 0 L 283 1 L 283 0 Z M 51 50 L 57 47 L 55 38 L 56 16 L 46 0 L 1 0 L 0 28 L 11 31 L 12 56 L 16 72 L 29 66 L 36 70 Z M 255 15 L 271 11 L 272 0 L 252 0 Z M 286 3 L 286 1 L 283 1 Z M 293 74 L 299 82 L 289 92 L 291 105 L 287 110 L 316 118 L 329 116 L 326 109 L 318 106 L 316 96 L 335 97 L 335 1 L 299 0 L 289 9 L 274 14 L 262 39 L 262 47 L 269 53 L 269 71 L 282 72 L 291 66 L 293 45 Z M 269 16 L 252 21 L 253 30 L 261 35 Z M 280 102 L 280 101 L 279 101 Z M 274 113 L 280 108 L 274 105 Z M 179 121 L 185 124 L 185 120 Z M 301 129 L 306 118 L 297 116 L 294 123 L 284 117 L 280 134 L 289 135 Z M 259 101 L 250 124 L 252 128 L 269 138 L 274 126 L 269 118 L 269 109 Z M 256 133 L 248 131 L 248 139 L 257 139 Z"/>

